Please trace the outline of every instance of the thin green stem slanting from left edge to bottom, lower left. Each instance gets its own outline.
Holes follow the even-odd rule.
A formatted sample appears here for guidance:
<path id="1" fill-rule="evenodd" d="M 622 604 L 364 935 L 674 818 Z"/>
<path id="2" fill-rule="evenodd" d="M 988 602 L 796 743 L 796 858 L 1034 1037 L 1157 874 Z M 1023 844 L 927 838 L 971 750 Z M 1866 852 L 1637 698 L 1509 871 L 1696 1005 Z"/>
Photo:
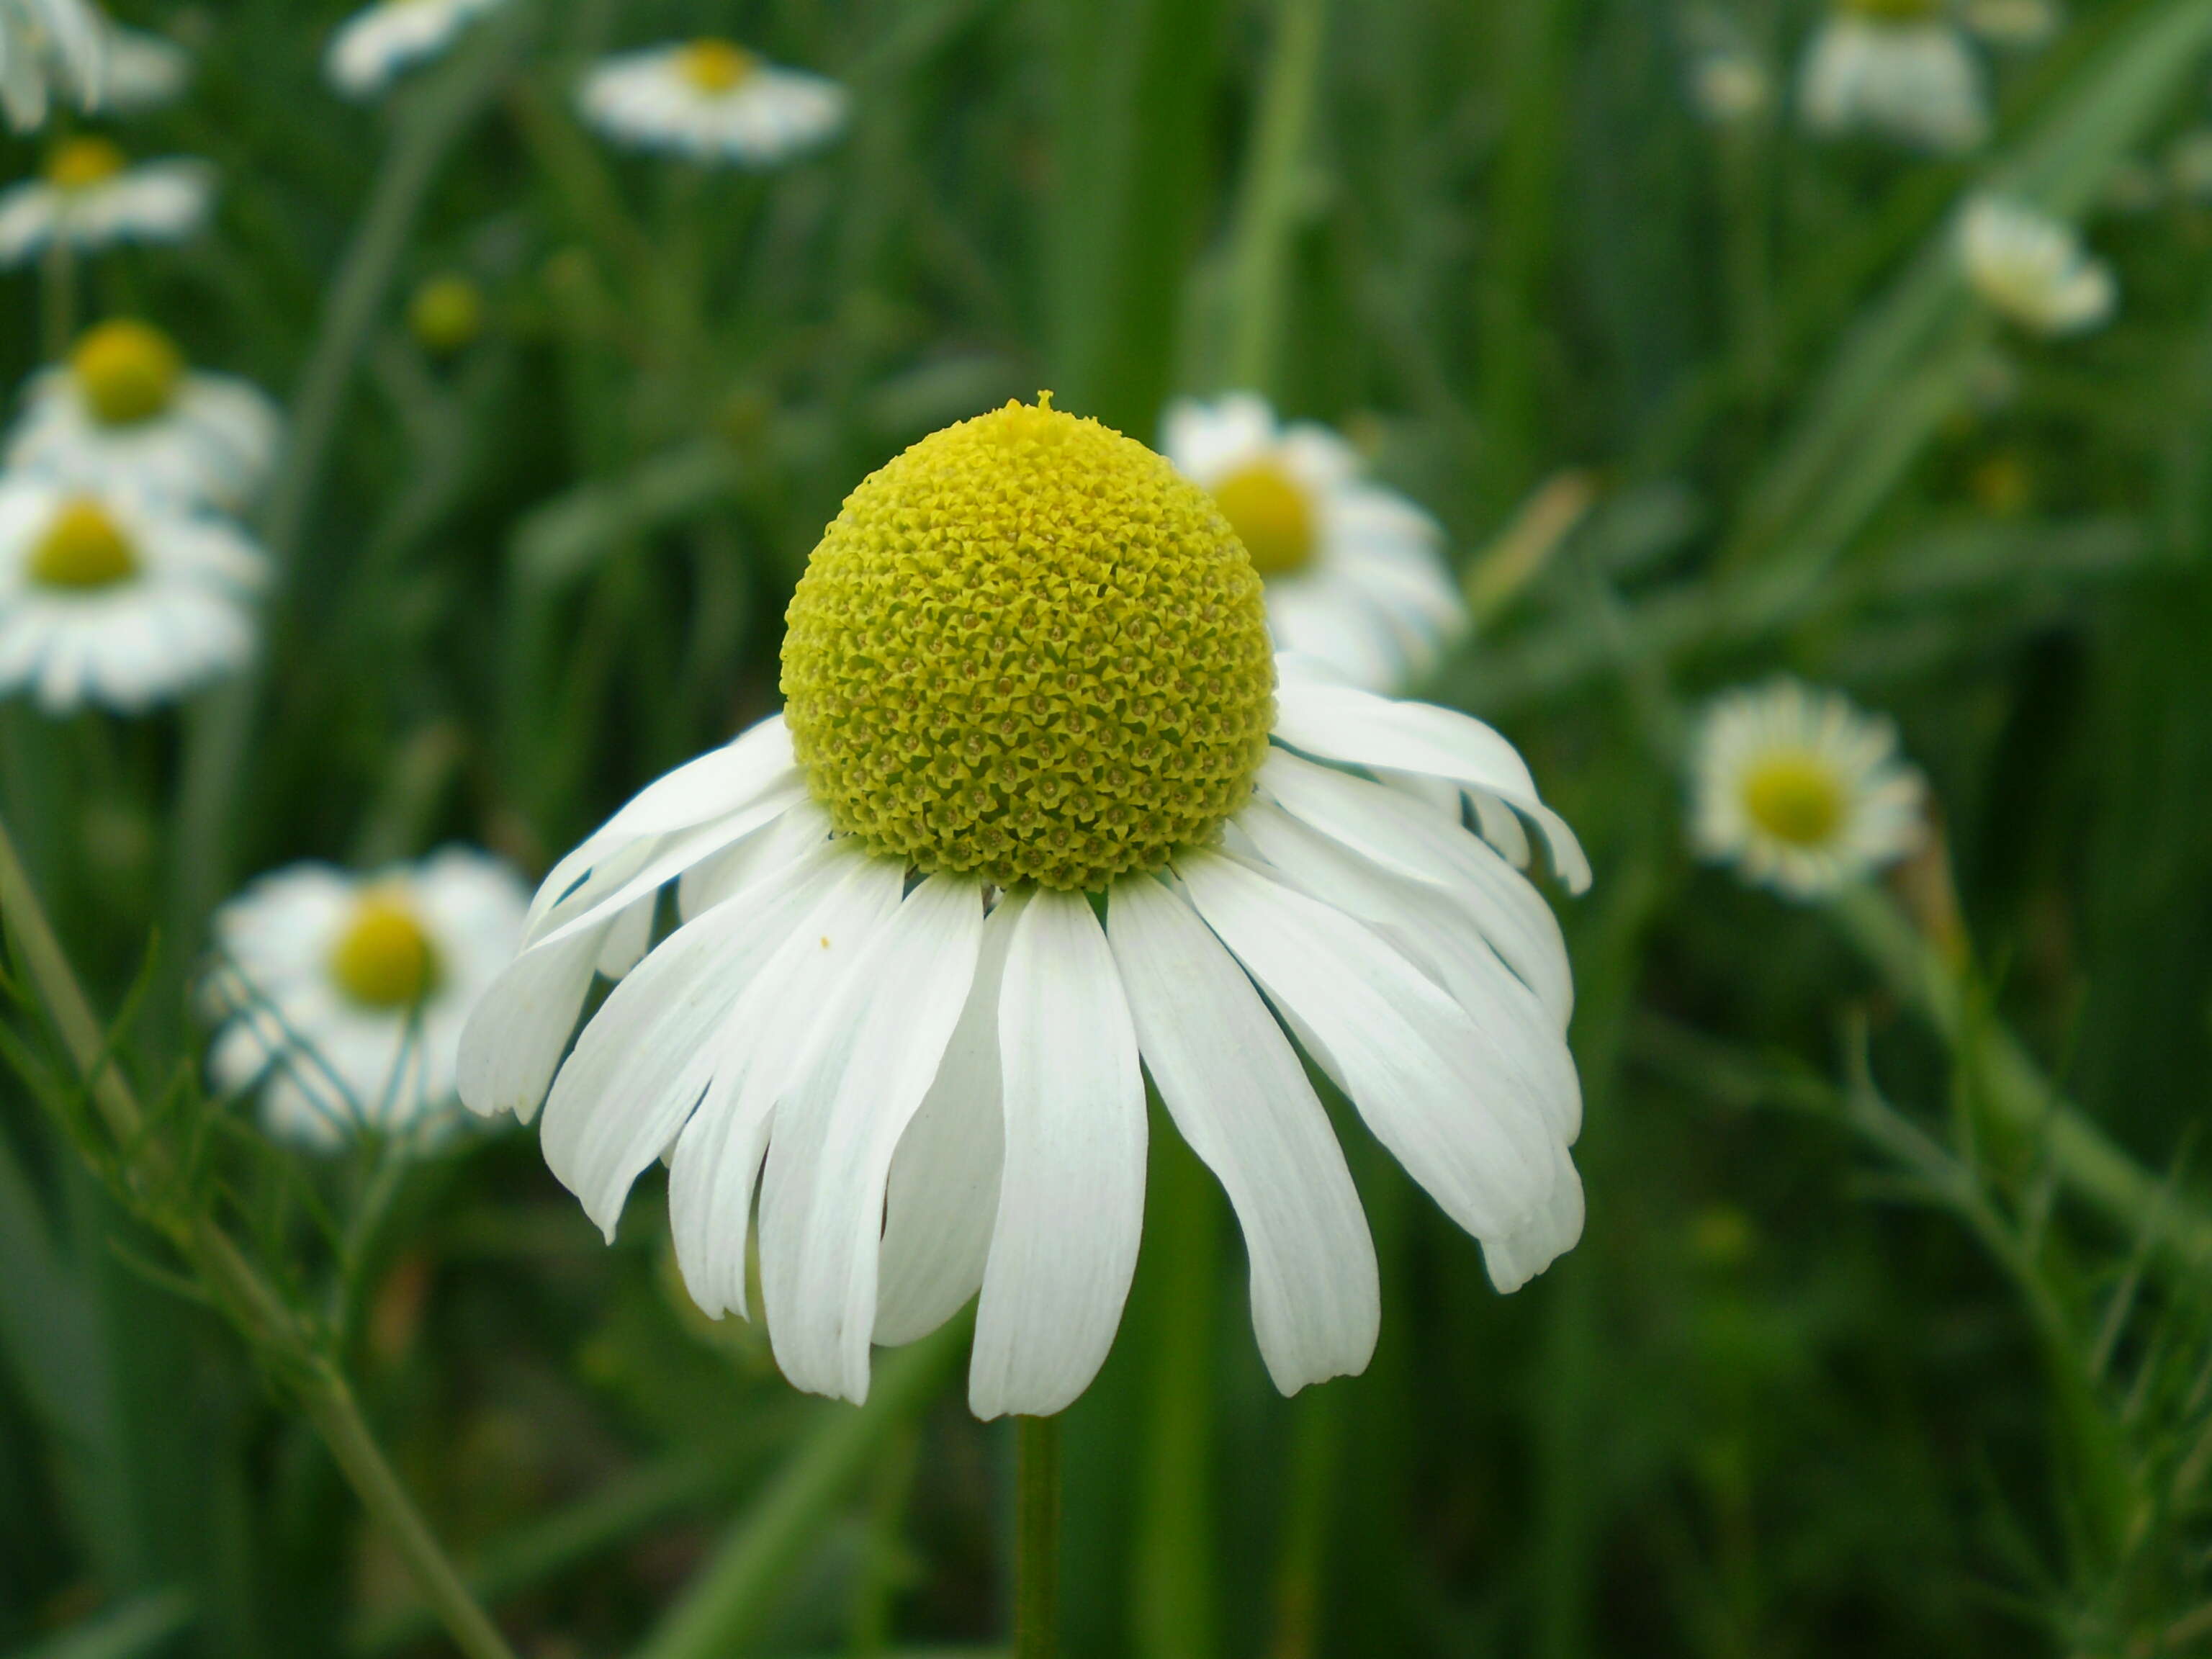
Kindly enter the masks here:
<path id="1" fill-rule="evenodd" d="M 139 1194 L 159 1190 L 170 1177 L 168 1159 L 148 1135 L 137 1093 L 115 1066 L 100 1018 L 38 902 L 4 821 L 0 821 L 0 918 L 15 936 L 31 984 L 77 1064 L 126 1170 L 131 1170 L 126 1179 Z M 407 1498 L 392 1462 L 361 1416 L 361 1402 L 354 1400 L 338 1367 L 321 1352 L 314 1332 L 303 1325 L 212 1217 L 204 1212 L 181 1217 L 168 1225 L 168 1232 L 199 1283 L 241 1329 L 254 1356 L 299 1396 L 307 1420 L 323 1436 L 363 1509 L 398 1548 L 400 1559 L 414 1573 L 416 1588 L 438 1613 L 456 1646 L 469 1659 L 513 1659 L 507 1641 L 469 1597 L 460 1573 L 453 1571 L 429 1524 Z"/>

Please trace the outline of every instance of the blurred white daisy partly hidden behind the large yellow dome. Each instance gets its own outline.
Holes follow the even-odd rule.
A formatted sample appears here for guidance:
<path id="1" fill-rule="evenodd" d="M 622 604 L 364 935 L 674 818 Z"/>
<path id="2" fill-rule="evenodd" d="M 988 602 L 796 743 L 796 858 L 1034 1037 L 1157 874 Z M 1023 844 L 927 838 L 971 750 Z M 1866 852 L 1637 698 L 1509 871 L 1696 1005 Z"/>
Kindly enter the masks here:
<path id="1" fill-rule="evenodd" d="M 1166 453 L 1237 531 L 1267 584 L 1267 628 L 1369 690 L 1400 690 L 1467 626 L 1444 531 L 1360 478 L 1360 458 L 1312 422 L 1279 425 L 1234 392 L 1168 409 Z"/>

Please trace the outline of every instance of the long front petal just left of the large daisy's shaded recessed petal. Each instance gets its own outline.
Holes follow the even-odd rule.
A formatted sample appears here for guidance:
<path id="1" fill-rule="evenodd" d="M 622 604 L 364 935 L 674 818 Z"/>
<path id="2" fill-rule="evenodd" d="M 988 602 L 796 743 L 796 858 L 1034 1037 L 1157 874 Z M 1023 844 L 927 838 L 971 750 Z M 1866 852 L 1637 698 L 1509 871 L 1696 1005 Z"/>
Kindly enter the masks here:
<path id="1" fill-rule="evenodd" d="M 783 1374 L 867 1398 L 891 1155 L 975 980 L 982 883 L 929 876 L 865 947 L 814 1066 L 776 1108 L 761 1181 L 761 1290 Z"/>

